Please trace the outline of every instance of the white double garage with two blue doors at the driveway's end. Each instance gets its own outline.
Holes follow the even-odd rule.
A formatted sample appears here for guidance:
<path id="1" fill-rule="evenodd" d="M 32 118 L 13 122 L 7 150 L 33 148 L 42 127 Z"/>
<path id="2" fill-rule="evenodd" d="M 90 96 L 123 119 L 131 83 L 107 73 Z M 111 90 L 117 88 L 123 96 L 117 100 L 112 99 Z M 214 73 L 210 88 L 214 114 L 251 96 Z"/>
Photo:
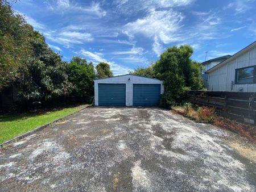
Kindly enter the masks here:
<path id="1" fill-rule="evenodd" d="M 158 106 L 163 81 L 125 74 L 94 80 L 96 106 Z"/>

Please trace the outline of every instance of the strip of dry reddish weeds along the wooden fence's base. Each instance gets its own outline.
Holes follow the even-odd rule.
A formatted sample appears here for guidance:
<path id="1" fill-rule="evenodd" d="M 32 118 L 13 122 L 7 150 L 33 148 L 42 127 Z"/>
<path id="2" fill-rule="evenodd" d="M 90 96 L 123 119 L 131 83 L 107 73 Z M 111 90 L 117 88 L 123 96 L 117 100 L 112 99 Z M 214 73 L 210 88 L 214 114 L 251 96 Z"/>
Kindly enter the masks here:
<path id="1" fill-rule="evenodd" d="M 174 111 L 196 122 L 211 123 L 214 126 L 230 130 L 256 142 L 256 127 L 250 124 L 236 122 L 217 115 L 212 107 L 198 107 L 185 103 L 182 107 L 174 107 Z"/>

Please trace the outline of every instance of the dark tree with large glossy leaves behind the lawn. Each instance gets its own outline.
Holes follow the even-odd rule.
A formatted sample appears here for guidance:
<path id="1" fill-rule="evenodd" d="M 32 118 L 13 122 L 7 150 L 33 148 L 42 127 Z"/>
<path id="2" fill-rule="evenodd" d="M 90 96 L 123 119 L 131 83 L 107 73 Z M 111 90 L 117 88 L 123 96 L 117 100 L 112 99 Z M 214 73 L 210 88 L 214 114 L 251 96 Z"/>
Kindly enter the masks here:
<path id="1" fill-rule="evenodd" d="M 53 52 L 39 32 L 30 32 L 32 55 L 19 68 L 17 83 L 20 96 L 28 101 L 48 101 L 69 95 L 73 85 L 68 81 L 67 63 Z"/>

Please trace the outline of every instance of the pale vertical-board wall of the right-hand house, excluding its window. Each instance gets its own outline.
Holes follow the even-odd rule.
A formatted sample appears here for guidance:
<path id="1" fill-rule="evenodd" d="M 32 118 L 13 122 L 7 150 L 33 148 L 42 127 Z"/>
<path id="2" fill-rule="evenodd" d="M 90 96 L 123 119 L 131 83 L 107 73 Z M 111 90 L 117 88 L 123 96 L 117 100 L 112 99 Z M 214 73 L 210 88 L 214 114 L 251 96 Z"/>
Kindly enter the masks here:
<path id="1" fill-rule="evenodd" d="M 235 84 L 236 69 L 254 65 L 256 65 L 256 47 L 210 72 L 208 90 L 256 92 L 256 84 Z"/>

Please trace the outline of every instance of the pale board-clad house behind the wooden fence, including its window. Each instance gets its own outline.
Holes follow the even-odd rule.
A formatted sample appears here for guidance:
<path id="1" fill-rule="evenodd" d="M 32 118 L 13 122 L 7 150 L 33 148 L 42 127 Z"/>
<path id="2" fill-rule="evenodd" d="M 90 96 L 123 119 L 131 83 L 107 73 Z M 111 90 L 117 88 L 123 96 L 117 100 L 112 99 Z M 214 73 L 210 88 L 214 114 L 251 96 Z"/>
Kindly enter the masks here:
<path id="1" fill-rule="evenodd" d="M 256 41 L 205 73 L 209 91 L 256 92 Z"/>

